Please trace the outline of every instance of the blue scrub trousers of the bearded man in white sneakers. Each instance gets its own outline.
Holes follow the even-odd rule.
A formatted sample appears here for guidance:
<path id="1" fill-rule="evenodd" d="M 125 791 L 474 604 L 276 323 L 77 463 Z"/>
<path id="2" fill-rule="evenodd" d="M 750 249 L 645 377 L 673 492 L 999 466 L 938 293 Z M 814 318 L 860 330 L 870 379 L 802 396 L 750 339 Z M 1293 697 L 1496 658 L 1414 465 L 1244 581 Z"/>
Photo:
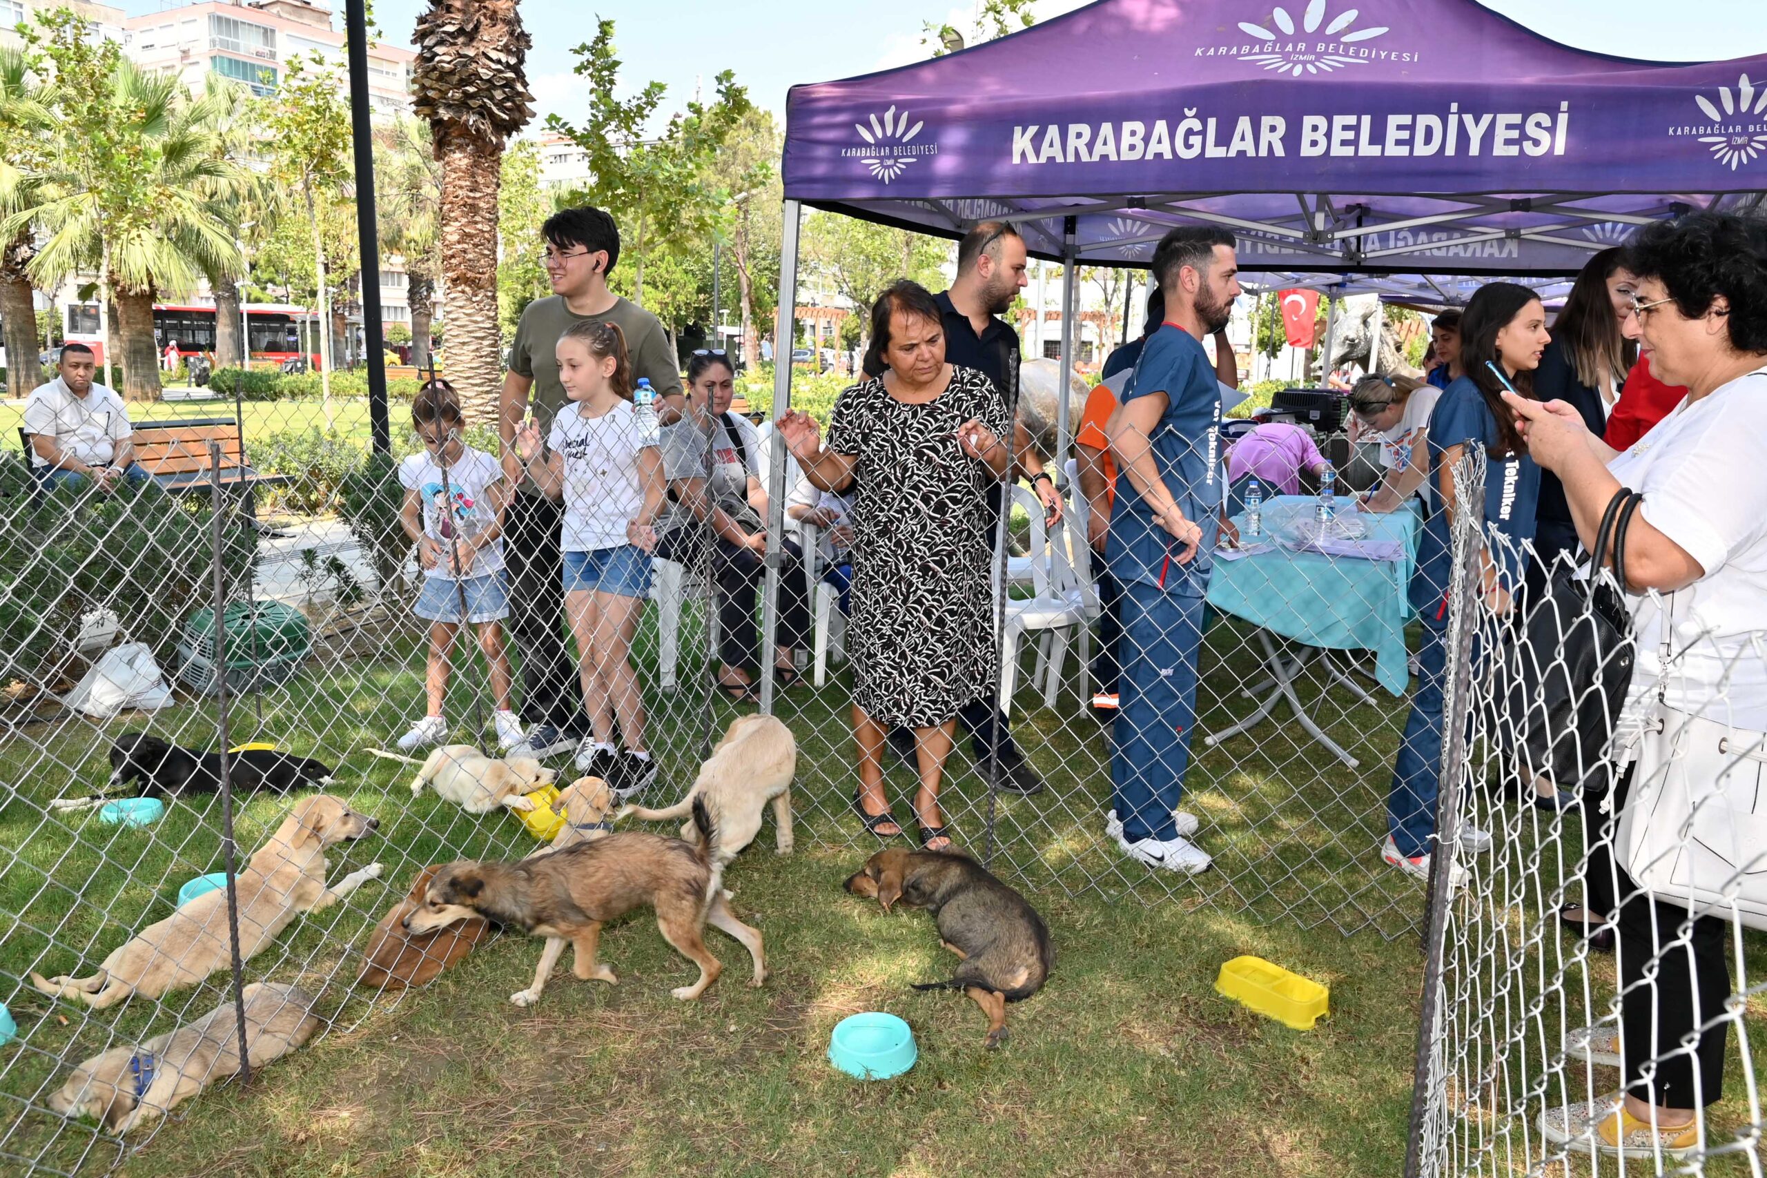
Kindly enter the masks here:
<path id="1" fill-rule="evenodd" d="M 1129 842 L 1179 837 L 1172 811 L 1184 797 L 1191 759 L 1202 646 L 1202 597 L 1164 593 L 1140 581 L 1122 586 L 1120 706 L 1110 779 Z"/>

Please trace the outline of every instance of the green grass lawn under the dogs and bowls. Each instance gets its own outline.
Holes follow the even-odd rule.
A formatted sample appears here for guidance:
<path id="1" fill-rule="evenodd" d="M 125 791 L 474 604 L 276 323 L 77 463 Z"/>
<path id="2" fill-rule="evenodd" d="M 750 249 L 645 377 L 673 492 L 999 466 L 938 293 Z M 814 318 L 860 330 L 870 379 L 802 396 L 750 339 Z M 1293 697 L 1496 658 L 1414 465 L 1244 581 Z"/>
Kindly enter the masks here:
<path id="1" fill-rule="evenodd" d="M 684 650 L 703 645 L 701 622 L 689 609 Z M 647 623 L 638 661 L 654 668 L 654 659 Z M 1237 625 L 1210 631 L 1203 668 L 1198 726 L 1210 731 L 1249 706 L 1225 691 L 1253 676 Z M 705 666 L 689 659 L 679 673 L 700 683 Z M 456 676 L 449 708 L 461 731 L 468 683 L 470 675 Z M 1044 991 L 1012 1007 L 1011 1044 L 990 1053 L 967 998 L 908 989 L 949 975 L 931 920 L 884 915 L 839 888 L 876 848 L 848 807 L 845 676 L 820 692 L 800 683 L 779 699 L 800 744 L 799 853 L 772 855 L 772 830 L 763 828 L 728 872 L 739 913 L 767 938 L 772 978 L 763 989 L 742 985 L 746 954 L 712 933 L 726 977 L 703 1001 L 677 1003 L 668 989 L 691 980 L 693 966 L 645 915 L 603 938 L 617 987 L 560 970 L 532 1010 L 507 1001 L 528 984 L 539 954 L 539 941 L 521 938 L 481 945 L 433 987 L 401 1000 L 352 989 L 366 931 L 417 867 L 534 846 L 514 818 L 472 818 L 429 793 L 413 800 L 406 766 L 362 754 L 403 729 L 421 689 L 415 634 L 391 629 L 378 643 L 366 638 L 362 650 L 329 650 L 286 687 L 235 705 L 233 740 L 276 738 L 330 759 L 339 766 L 334 791 L 382 819 L 378 835 L 332 851 L 332 878 L 375 860 L 387 876 L 297 922 L 247 966 L 251 978 L 316 993 L 330 1031 L 249 1088 L 223 1084 L 178 1109 L 124 1173 L 1399 1173 L 1422 894 L 1378 865 L 1376 846 L 1403 701 L 1357 703 L 1311 671 L 1304 676 L 1304 699 L 1359 756 L 1355 770 L 1311 745 L 1281 712 L 1248 736 L 1198 747 L 1187 805 L 1203 816 L 1217 869 L 1186 881 L 1133 867 L 1104 842 L 1103 733 L 1067 698 L 1057 710 L 1034 706 L 1027 687 L 1014 731 L 1050 789 L 995 802 L 995 871 L 1044 913 L 1058 955 Z M 673 795 L 735 710 L 693 689 L 652 691 L 648 703 Z M 42 1152 L 64 1171 L 99 1173 L 118 1155 L 90 1127 L 21 1113 L 18 1100 L 58 1077 L 60 1060 L 102 1049 L 111 1033 L 170 1030 L 226 996 L 223 973 L 173 991 L 157 1008 L 136 1000 L 83 1012 L 14 985 L 28 968 L 90 970 L 131 929 L 170 911 L 178 883 L 219 867 L 217 804 L 177 805 L 147 830 L 44 818 L 48 798 L 102 779 L 108 738 L 134 726 L 23 724 L 0 742 L 0 774 L 16 786 L 0 807 L 0 913 L 9 922 L 0 959 L 21 1028 L 21 1042 L 0 1049 L 0 1095 L 12 1097 L 0 1104 L 0 1155 Z M 212 745 L 214 706 L 186 699 L 154 728 Z M 982 853 L 986 789 L 967 756 L 954 765 L 947 816 L 959 842 Z M 901 768 L 889 782 L 898 798 L 912 789 Z M 246 802 L 242 846 L 262 844 L 284 809 L 276 798 Z M 906 818 L 906 805 L 898 814 Z M 1514 837 L 1539 835 L 1518 823 Z M 1504 904 L 1539 908 L 1532 895 L 1505 895 Z M 1217 996 L 1221 963 L 1240 954 L 1325 982 L 1332 1016 L 1292 1031 Z M 1753 977 L 1767 970 L 1753 940 L 1748 964 Z M 1597 961 L 1590 982 L 1612 987 L 1612 964 Z M 832 1072 L 829 1031 L 857 1010 L 903 1016 L 921 1044 L 919 1065 L 873 1084 Z M 1737 1088 L 1719 1123 L 1746 1120 Z"/>

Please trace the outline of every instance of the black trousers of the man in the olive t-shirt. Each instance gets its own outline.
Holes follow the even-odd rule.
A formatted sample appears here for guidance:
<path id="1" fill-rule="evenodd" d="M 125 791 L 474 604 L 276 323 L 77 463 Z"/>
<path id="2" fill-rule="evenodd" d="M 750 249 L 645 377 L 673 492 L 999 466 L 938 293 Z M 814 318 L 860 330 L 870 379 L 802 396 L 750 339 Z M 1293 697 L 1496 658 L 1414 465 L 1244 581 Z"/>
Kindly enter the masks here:
<path id="1" fill-rule="evenodd" d="M 504 510 L 504 567 L 521 653 L 521 719 L 574 729 L 583 724 L 583 687 L 565 639 L 562 526 L 562 505 L 518 493 Z"/>

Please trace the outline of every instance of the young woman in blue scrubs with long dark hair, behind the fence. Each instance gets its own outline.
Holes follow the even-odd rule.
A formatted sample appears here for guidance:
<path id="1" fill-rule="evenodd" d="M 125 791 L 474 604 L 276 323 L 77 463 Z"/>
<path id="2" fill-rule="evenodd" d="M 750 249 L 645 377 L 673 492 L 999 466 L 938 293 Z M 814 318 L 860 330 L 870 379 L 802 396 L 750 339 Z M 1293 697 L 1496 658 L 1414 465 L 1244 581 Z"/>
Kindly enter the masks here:
<path id="1" fill-rule="evenodd" d="M 1484 450 L 1481 530 L 1486 537 L 1502 537 L 1505 542 L 1486 544 L 1477 592 L 1488 609 L 1507 615 L 1525 572 L 1527 549 L 1521 544 L 1534 537 L 1534 500 L 1539 495 L 1541 470 L 1528 457 L 1527 443 L 1516 429 L 1514 408 L 1504 401 L 1504 381 L 1528 390 L 1530 376 L 1551 339 L 1539 297 L 1516 283 L 1479 288 L 1467 304 L 1460 327 L 1461 366 L 1467 374 L 1449 383 L 1430 419 L 1430 480 L 1442 498 L 1417 542 L 1410 600 L 1424 623 L 1424 639 L 1417 650 L 1417 692 L 1392 765 L 1387 842 L 1382 848 L 1387 864 L 1419 880 L 1430 878 L 1442 772 L 1447 593 L 1454 563 L 1454 517 L 1461 510 L 1456 466 L 1470 447 Z M 1460 844 L 1468 851 L 1484 851 L 1491 846 L 1491 835 L 1463 821 Z M 1456 881 L 1460 874 L 1456 865 Z"/>

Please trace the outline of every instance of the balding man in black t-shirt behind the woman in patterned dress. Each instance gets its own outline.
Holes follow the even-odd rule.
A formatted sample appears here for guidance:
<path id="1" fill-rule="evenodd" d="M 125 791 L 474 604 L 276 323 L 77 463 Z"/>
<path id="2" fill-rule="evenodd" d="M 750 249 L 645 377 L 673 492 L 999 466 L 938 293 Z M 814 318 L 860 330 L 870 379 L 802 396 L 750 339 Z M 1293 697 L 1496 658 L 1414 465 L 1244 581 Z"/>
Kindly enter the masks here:
<path id="1" fill-rule="evenodd" d="M 951 290 L 935 297 L 944 313 L 945 362 L 981 371 L 1012 406 L 1018 404 L 1018 332 L 998 316 L 1012 306 L 1028 281 L 1025 240 L 1018 230 L 1009 221 L 982 221 L 958 242 L 958 277 Z M 878 374 L 882 369 L 866 369 L 866 376 Z M 1030 431 L 1018 413 L 1012 417 L 1012 457 L 1014 477 L 1030 479 L 1050 523 L 1060 519 L 1062 496 L 1043 468 L 1043 459 L 1030 443 Z M 1005 487 L 1000 486 L 995 491 L 991 528 L 1005 503 Z M 970 733 L 970 749 L 984 777 L 993 777 L 1002 789 L 1012 793 L 1043 789 L 1043 779 L 1012 740 L 1007 717 L 993 698 L 968 703 L 958 712 L 958 721 Z M 891 747 L 914 761 L 914 733 L 908 729 L 892 731 Z"/>

